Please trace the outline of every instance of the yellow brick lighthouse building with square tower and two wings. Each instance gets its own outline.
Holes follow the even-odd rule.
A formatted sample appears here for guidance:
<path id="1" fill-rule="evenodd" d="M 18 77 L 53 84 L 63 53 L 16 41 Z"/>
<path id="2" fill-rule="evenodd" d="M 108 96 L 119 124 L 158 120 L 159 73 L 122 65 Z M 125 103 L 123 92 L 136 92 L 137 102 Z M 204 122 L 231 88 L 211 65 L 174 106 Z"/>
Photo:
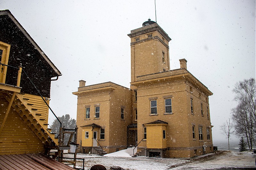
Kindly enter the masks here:
<path id="1" fill-rule="evenodd" d="M 104 154 L 137 144 L 137 155 L 150 157 L 212 152 L 212 92 L 187 70 L 186 59 L 180 59 L 179 69 L 170 70 L 171 38 L 154 21 L 128 36 L 130 89 L 112 82 L 85 86 L 80 80 L 73 93 L 81 152 Z"/>

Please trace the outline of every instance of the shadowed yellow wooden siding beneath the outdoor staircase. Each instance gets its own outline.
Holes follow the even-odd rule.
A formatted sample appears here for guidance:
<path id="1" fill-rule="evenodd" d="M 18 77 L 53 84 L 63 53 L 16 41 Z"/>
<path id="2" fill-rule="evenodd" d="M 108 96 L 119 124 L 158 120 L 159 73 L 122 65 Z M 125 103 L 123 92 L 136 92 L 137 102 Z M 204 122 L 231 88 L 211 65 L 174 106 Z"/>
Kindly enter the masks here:
<path id="1" fill-rule="evenodd" d="M 8 103 L 0 101 L 3 108 Z M 0 119 L 3 120 L 5 111 L 0 111 Z M 1 123 L 2 124 L 2 123 Z M 10 110 L 2 133 L 0 134 L 0 155 L 2 154 L 23 154 L 39 153 L 44 151 L 44 145 L 35 133 L 14 111 Z"/>

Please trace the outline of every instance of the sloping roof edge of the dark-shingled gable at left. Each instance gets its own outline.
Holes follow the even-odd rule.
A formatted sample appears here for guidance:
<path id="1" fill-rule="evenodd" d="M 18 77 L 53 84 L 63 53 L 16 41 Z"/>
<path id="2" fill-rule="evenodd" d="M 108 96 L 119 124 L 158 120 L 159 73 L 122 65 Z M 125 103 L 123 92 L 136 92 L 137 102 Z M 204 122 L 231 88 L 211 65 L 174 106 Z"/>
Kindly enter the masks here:
<path id="1" fill-rule="evenodd" d="M 25 35 L 25 37 L 31 42 L 31 44 L 35 47 L 35 49 L 40 53 L 40 55 L 45 59 L 45 61 L 52 67 L 52 69 L 56 72 L 56 76 L 61 76 L 60 70 L 52 63 L 52 61 L 44 54 L 43 50 L 36 44 L 36 42 L 31 38 L 28 32 L 20 25 L 18 20 L 12 15 L 9 10 L 1 10 L 1 15 L 7 15 L 13 23 L 20 29 L 20 31 Z"/>

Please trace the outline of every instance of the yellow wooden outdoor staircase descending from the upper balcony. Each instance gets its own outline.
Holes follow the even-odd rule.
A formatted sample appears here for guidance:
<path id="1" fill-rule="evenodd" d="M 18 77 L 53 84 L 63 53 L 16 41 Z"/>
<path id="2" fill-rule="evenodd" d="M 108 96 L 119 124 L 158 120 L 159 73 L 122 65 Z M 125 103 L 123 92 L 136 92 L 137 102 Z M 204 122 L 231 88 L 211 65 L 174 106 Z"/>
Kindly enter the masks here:
<path id="1" fill-rule="evenodd" d="M 36 136 L 44 144 L 59 145 L 58 139 L 55 138 L 55 133 L 51 133 L 51 129 L 48 128 L 47 117 L 37 112 L 33 104 L 29 103 L 29 99 L 24 97 L 24 93 L 0 90 L 0 98 L 7 100 L 9 103 L 11 103 L 13 97 L 12 109 L 20 115 Z"/>

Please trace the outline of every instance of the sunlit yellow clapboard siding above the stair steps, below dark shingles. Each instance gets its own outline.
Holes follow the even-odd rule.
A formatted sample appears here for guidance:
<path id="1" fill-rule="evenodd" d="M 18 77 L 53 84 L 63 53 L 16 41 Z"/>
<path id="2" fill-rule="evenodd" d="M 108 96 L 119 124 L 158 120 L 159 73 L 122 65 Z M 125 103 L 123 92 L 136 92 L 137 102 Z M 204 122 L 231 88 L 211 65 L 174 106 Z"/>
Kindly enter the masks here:
<path id="1" fill-rule="evenodd" d="M 45 119 L 44 123 L 48 123 L 49 108 L 44 103 L 44 100 L 41 98 L 41 96 L 36 96 L 32 94 L 24 94 L 23 96 L 24 98 L 29 99 L 28 104 L 33 104 L 32 109 L 37 109 L 35 114 L 41 114 L 40 119 Z M 49 104 L 49 100 L 46 100 L 46 102 L 47 104 Z"/>

